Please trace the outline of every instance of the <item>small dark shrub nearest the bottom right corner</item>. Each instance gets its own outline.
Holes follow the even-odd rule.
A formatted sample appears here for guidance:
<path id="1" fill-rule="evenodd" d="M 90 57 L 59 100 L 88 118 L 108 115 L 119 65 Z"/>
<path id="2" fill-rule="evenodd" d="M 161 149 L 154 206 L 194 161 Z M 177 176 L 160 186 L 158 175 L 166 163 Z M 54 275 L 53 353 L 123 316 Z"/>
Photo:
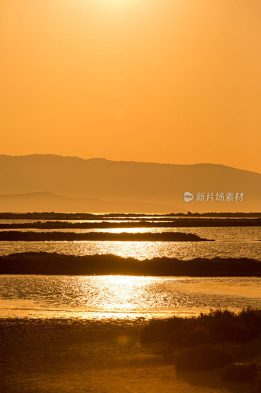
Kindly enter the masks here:
<path id="1" fill-rule="evenodd" d="M 227 365 L 222 373 L 223 381 L 246 382 L 254 381 L 258 374 L 256 363 Z"/>

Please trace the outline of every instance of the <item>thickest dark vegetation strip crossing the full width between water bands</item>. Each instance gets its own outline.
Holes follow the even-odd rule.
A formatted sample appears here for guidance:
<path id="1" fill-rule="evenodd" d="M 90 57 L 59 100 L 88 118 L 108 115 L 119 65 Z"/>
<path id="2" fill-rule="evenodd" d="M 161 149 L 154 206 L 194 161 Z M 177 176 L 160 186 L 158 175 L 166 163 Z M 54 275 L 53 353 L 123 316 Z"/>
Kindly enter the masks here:
<path id="1" fill-rule="evenodd" d="M 140 261 L 112 254 L 14 253 L 0 257 L 0 274 L 243 277 L 261 276 L 261 262 L 249 258 Z"/>

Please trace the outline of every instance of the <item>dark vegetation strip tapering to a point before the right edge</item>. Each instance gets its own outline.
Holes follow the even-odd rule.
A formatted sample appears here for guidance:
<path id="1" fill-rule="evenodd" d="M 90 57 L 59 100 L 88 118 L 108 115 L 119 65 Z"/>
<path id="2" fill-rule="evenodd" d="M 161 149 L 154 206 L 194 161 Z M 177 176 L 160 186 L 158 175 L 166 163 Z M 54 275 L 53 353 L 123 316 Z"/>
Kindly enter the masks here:
<path id="1" fill-rule="evenodd" d="M 201 238 L 194 233 L 161 232 L 161 233 L 108 233 L 108 232 L 33 232 L 2 231 L 0 241 L 131 241 L 131 242 L 207 242 L 214 241 Z"/>

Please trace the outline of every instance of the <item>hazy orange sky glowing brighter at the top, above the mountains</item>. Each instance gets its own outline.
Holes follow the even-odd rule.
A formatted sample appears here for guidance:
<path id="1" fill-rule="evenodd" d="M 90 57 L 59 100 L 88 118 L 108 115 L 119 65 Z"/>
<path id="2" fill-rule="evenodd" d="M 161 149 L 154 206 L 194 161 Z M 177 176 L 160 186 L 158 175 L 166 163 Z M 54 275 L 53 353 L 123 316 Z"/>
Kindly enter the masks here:
<path id="1" fill-rule="evenodd" d="M 261 172 L 260 0 L 0 8 L 0 153 Z"/>

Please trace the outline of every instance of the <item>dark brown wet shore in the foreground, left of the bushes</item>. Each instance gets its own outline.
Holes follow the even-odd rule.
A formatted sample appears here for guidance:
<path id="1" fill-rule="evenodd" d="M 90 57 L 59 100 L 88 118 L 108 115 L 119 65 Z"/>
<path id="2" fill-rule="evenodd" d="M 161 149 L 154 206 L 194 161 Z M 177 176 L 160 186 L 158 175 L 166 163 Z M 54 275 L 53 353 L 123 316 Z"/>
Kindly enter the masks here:
<path id="1" fill-rule="evenodd" d="M 142 346 L 146 320 L 0 319 L 1 392 L 245 393 L 221 370 L 177 374 L 166 344 Z M 261 339 L 229 344 L 238 361 L 256 359 Z"/>

